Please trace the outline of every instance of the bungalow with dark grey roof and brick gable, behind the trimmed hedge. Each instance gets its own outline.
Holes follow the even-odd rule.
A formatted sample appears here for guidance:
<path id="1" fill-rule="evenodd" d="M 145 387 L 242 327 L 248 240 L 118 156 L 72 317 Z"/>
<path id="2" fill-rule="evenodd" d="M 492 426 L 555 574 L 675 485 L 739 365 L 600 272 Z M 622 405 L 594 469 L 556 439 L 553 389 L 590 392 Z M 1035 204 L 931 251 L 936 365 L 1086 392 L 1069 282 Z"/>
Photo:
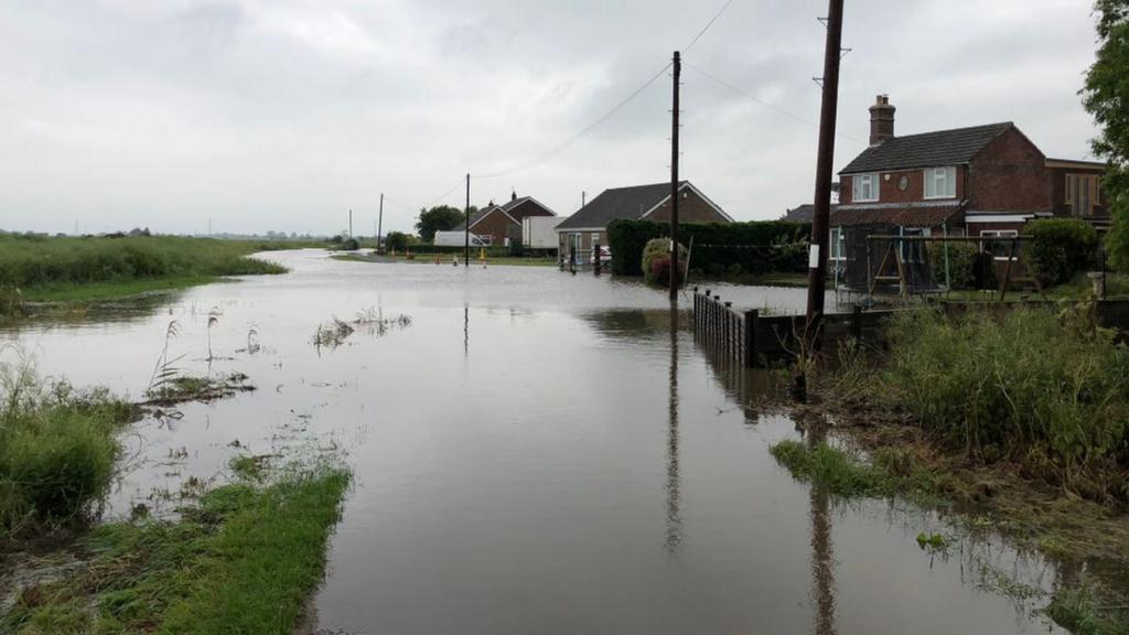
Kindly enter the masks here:
<path id="1" fill-rule="evenodd" d="M 689 181 L 679 185 L 679 220 L 682 223 L 732 223 L 733 218 Z M 557 226 L 560 253 L 607 245 L 607 224 L 620 218 L 671 220 L 671 184 L 654 183 L 604 190 Z"/>

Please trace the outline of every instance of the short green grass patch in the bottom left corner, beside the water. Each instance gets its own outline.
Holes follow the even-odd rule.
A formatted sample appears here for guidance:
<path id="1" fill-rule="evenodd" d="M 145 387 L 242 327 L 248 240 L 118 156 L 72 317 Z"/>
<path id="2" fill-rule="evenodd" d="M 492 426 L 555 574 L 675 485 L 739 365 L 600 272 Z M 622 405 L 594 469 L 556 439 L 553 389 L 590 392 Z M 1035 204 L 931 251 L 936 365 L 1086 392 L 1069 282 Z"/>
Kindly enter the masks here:
<path id="1" fill-rule="evenodd" d="M 292 472 L 268 486 L 204 494 L 178 521 L 114 523 L 86 540 L 93 558 L 24 589 L 0 623 L 17 635 L 289 634 L 325 573 L 350 476 Z"/>

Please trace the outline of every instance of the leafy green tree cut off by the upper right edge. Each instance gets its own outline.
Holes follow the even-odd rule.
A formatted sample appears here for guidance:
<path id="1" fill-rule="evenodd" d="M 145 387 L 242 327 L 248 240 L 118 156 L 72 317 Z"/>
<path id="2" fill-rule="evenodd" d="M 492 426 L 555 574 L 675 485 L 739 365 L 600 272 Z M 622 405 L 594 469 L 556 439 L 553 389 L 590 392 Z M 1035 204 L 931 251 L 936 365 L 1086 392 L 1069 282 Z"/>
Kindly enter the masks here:
<path id="1" fill-rule="evenodd" d="M 1113 225 L 1105 245 L 1110 262 L 1129 270 L 1129 0 L 1097 0 L 1097 61 L 1086 73 L 1083 104 L 1101 133 L 1091 145 L 1109 162 L 1102 190 Z"/>

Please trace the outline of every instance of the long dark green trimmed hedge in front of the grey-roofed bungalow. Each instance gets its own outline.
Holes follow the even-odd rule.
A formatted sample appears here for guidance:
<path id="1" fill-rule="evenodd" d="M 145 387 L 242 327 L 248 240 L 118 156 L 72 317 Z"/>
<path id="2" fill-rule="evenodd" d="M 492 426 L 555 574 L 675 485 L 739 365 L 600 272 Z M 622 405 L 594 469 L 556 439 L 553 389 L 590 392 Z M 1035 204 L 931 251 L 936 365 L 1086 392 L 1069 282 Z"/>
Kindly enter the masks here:
<path id="1" fill-rule="evenodd" d="M 749 273 L 807 270 L 807 242 L 812 235 L 808 223 L 688 223 L 679 234 L 679 241 L 688 246 L 693 238 L 691 269 L 714 273 L 736 268 Z M 665 223 L 613 220 L 607 226 L 612 273 L 641 276 L 647 242 L 669 235 L 671 227 Z"/>

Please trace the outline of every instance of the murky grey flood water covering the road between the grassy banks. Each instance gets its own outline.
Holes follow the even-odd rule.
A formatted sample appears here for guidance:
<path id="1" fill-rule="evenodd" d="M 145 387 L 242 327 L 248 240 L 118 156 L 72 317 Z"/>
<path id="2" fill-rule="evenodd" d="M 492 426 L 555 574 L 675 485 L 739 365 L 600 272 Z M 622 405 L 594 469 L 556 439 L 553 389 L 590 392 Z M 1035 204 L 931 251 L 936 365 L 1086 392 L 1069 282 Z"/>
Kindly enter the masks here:
<path id="1" fill-rule="evenodd" d="M 175 321 L 178 366 L 257 386 L 139 424 L 111 517 L 159 508 L 190 477 L 224 482 L 236 453 L 343 455 L 356 484 L 320 632 L 1056 632 L 984 580 L 1048 589 L 1049 566 L 991 540 L 931 556 L 916 542 L 946 531 L 931 513 L 838 502 L 778 467 L 769 445 L 795 425 L 750 407 L 763 377 L 711 363 L 662 292 L 551 268 L 266 258 L 292 272 L 0 342 L 138 398 Z M 800 311 L 806 292 L 720 293 Z M 313 345 L 366 310 L 411 323 Z"/>

